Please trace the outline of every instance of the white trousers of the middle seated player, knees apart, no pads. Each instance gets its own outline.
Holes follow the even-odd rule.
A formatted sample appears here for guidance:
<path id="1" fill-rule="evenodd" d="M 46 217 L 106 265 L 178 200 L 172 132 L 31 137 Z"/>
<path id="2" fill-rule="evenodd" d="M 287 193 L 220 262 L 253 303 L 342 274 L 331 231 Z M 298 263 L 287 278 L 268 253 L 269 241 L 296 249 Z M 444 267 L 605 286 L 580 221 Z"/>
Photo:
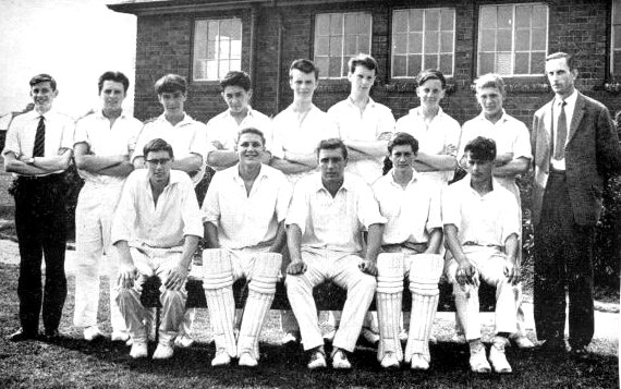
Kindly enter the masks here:
<path id="1" fill-rule="evenodd" d="M 357 255 L 344 255 L 328 250 L 320 253 L 303 251 L 302 259 L 307 266 L 306 271 L 297 276 L 287 275 L 285 285 L 289 303 L 300 325 L 304 350 L 324 344 L 313 288 L 332 280 L 348 292 L 341 325 L 332 344 L 349 352 L 354 351 L 364 316 L 375 294 L 375 277 L 360 270 L 362 258 Z"/>

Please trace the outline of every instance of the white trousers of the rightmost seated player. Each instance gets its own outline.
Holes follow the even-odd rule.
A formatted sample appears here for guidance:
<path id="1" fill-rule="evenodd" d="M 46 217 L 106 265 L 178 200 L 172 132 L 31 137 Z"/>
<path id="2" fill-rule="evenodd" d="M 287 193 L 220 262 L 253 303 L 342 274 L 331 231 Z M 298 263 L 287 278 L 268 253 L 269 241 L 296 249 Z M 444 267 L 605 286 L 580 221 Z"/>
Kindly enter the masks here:
<path id="1" fill-rule="evenodd" d="M 496 326 L 495 332 L 514 333 L 518 329 L 516 314 L 520 290 L 507 281 L 504 264 L 507 256 L 496 247 L 464 246 L 464 254 L 477 268 L 479 279 L 496 287 Z M 478 287 L 460 285 L 455 280 L 458 263 L 454 258 L 447 262 L 446 275 L 453 284 L 455 307 L 463 326 L 466 340 L 480 338 L 480 318 Z"/>

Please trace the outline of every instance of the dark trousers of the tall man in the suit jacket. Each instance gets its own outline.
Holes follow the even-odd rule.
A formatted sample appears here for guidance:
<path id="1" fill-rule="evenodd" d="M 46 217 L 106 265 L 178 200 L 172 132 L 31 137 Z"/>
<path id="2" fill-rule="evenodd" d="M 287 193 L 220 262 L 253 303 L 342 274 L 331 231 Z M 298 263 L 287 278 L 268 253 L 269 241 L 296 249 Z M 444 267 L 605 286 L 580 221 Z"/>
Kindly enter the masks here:
<path id="1" fill-rule="evenodd" d="M 551 172 L 535 226 L 534 314 L 540 340 L 564 337 L 565 287 L 570 345 L 588 345 L 593 339 L 594 243 L 595 227 L 574 222 L 564 173 Z"/>

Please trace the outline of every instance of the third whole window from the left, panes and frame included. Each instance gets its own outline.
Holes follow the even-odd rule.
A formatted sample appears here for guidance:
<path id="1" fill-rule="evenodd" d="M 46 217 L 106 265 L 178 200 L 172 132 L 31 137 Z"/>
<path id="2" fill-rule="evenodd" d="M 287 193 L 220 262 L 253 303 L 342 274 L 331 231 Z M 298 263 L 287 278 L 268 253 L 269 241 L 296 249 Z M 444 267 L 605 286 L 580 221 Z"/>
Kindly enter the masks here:
<path id="1" fill-rule="evenodd" d="M 453 74 L 455 10 L 398 10 L 392 13 L 392 76 L 415 77 L 423 69 Z"/>

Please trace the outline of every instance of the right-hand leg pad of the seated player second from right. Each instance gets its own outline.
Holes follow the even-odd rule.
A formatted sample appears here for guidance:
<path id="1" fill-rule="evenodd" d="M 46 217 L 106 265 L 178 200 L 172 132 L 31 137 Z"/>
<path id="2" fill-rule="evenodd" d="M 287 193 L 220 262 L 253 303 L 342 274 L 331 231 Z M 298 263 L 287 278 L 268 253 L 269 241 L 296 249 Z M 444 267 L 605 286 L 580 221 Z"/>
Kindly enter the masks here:
<path id="1" fill-rule="evenodd" d="M 438 282 L 442 269 L 443 259 L 440 255 L 418 254 L 412 259 L 410 268 L 412 315 L 405 347 L 405 362 L 410 362 L 413 354 L 421 354 L 427 362 L 430 362 L 429 336 L 438 309 L 440 293 Z"/>

